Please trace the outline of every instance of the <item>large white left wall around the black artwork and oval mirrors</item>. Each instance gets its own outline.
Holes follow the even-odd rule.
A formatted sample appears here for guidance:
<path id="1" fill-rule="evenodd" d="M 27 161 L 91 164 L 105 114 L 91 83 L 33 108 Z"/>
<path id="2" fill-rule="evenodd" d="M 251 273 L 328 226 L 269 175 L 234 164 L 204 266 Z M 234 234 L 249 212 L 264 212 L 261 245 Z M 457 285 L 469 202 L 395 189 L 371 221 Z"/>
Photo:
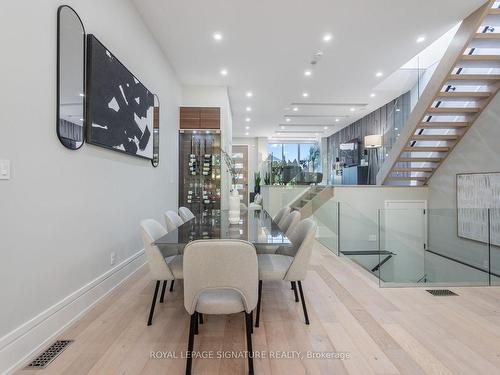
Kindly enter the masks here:
<path id="1" fill-rule="evenodd" d="M 61 2 L 3 1 L 0 158 L 12 161 L 12 178 L 0 180 L 0 373 L 17 360 L 2 347 L 15 335 L 4 335 L 109 271 L 111 252 L 117 264 L 136 254 L 139 221 L 161 220 L 177 206 L 181 89 L 172 69 L 130 1 L 65 3 L 158 94 L 160 166 L 91 145 L 62 146 L 55 127 Z"/>

